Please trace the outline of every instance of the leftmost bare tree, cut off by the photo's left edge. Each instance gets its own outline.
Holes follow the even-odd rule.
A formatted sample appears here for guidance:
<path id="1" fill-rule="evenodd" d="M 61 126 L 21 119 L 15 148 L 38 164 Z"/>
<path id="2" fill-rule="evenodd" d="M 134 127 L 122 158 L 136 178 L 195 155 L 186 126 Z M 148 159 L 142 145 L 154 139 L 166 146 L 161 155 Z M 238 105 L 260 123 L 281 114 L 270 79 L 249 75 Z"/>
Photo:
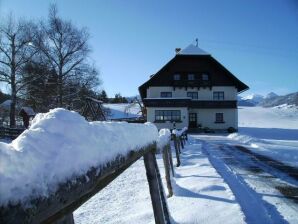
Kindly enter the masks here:
<path id="1" fill-rule="evenodd" d="M 11 127 L 16 124 L 17 94 L 27 85 L 22 81 L 22 68 L 37 52 L 32 45 L 35 27 L 25 20 L 16 21 L 12 15 L 0 24 L 0 81 L 6 82 L 11 90 Z"/>

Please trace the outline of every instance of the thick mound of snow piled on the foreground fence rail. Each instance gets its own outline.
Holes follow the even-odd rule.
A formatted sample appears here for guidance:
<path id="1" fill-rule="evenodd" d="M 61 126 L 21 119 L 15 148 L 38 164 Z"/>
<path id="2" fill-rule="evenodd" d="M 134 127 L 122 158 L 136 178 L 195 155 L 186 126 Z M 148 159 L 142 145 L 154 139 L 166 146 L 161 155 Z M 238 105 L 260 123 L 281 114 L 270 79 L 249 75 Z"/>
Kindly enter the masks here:
<path id="1" fill-rule="evenodd" d="M 0 143 L 0 205 L 48 196 L 58 183 L 157 138 L 150 123 L 89 123 L 61 108 L 37 114 L 29 130 L 11 144 Z"/>

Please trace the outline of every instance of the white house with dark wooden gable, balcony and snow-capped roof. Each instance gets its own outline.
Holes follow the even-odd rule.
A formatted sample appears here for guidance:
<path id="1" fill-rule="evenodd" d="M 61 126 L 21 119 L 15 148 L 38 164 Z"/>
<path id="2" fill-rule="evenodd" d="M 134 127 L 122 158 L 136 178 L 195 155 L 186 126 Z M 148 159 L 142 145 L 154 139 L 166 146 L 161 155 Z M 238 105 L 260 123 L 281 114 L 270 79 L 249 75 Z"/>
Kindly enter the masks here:
<path id="1" fill-rule="evenodd" d="M 158 129 L 238 129 L 237 94 L 248 86 L 194 45 L 139 87 L 147 121 Z"/>

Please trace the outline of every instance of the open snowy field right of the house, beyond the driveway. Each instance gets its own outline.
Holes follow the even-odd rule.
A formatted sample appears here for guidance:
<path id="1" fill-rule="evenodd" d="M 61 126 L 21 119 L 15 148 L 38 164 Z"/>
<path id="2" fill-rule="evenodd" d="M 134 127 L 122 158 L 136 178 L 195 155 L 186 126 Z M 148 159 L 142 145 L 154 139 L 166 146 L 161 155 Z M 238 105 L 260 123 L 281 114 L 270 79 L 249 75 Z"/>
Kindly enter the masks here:
<path id="1" fill-rule="evenodd" d="M 298 167 L 298 107 L 239 108 L 239 132 L 229 139 Z"/>

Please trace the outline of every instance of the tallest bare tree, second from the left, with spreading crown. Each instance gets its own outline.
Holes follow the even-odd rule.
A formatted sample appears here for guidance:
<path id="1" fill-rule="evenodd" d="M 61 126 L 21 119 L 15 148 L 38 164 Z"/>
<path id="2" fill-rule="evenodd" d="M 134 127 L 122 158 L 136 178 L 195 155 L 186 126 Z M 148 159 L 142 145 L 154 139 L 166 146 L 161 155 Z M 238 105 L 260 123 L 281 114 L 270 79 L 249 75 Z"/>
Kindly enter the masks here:
<path id="1" fill-rule="evenodd" d="M 41 27 L 42 35 L 36 45 L 57 74 L 58 106 L 63 107 L 65 86 L 77 78 L 90 52 L 89 34 L 85 28 L 78 29 L 70 21 L 61 19 L 55 5 L 50 7 L 48 22 Z"/>

